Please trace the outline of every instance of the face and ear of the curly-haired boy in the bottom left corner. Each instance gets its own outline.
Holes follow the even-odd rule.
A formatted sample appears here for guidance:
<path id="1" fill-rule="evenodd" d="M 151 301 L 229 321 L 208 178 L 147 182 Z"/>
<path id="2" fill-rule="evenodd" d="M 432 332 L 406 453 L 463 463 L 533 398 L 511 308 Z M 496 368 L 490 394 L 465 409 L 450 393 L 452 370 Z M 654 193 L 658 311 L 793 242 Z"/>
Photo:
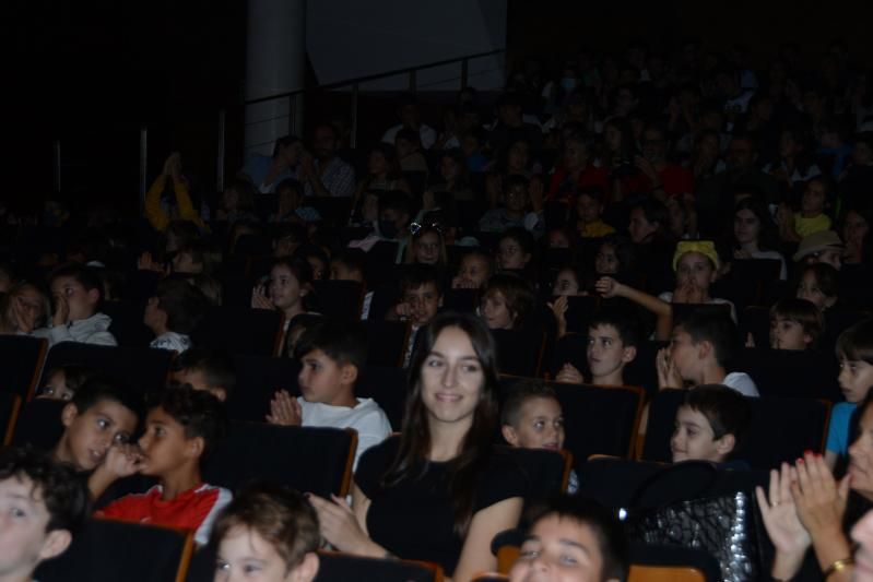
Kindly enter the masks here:
<path id="1" fill-rule="evenodd" d="M 26 475 L 0 480 L 0 574 L 8 580 L 31 580 L 36 565 L 63 551 L 70 542 L 66 530 L 46 532 L 50 519 L 42 489 Z"/>

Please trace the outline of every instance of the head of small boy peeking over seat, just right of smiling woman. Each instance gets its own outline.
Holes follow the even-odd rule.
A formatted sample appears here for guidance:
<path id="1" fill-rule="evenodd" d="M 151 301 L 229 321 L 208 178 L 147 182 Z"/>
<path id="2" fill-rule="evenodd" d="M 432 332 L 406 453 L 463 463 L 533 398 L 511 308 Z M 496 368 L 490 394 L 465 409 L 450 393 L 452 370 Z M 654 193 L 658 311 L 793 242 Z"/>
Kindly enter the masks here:
<path id="1" fill-rule="evenodd" d="M 500 409 L 506 442 L 523 449 L 564 447 L 564 414 L 554 389 L 534 381 L 516 384 Z"/>

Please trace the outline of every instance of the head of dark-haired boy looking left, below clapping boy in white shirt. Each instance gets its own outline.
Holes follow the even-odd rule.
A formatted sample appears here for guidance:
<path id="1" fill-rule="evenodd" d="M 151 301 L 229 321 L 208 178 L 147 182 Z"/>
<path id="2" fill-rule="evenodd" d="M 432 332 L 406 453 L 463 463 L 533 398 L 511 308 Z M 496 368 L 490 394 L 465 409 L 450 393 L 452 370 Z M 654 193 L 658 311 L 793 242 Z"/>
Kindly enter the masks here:
<path id="1" fill-rule="evenodd" d="M 704 384 L 688 391 L 670 439 L 673 462 L 723 463 L 742 443 L 751 421 L 751 404 L 731 388 Z"/>

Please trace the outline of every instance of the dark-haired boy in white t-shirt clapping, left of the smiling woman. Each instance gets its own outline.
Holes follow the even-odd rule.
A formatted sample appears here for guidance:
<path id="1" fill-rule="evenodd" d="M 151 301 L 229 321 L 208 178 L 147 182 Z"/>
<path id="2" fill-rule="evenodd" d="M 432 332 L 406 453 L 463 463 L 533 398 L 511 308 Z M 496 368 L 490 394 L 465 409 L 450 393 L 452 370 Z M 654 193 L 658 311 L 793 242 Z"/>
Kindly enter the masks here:
<path id="1" fill-rule="evenodd" d="M 326 320 L 307 330 L 295 357 L 302 368 L 302 396 L 280 390 L 267 421 L 285 426 L 353 428 L 357 431 L 355 466 L 361 453 L 391 433 L 388 416 L 373 399 L 355 397 L 355 383 L 366 361 L 367 344 L 358 326 Z"/>

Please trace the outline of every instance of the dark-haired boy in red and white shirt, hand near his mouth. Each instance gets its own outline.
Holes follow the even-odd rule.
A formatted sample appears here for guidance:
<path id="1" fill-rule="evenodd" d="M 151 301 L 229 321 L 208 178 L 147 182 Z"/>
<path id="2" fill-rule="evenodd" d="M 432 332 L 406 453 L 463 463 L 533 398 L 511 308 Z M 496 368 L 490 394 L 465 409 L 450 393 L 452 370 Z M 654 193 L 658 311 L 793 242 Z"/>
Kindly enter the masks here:
<path id="1" fill-rule="evenodd" d="M 149 406 L 145 433 L 139 449 L 129 448 L 118 460 L 119 477 L 141 473 L 158 478 L 144 494 L 111 502 L 99 515 L 194 531 L 194 542 L 207 544 L 215 516 L 231 501 L 231 491 L 204 484 L 200 460 L 226 432 L 222 403 L 190 387 L 168 388 Z"/>

